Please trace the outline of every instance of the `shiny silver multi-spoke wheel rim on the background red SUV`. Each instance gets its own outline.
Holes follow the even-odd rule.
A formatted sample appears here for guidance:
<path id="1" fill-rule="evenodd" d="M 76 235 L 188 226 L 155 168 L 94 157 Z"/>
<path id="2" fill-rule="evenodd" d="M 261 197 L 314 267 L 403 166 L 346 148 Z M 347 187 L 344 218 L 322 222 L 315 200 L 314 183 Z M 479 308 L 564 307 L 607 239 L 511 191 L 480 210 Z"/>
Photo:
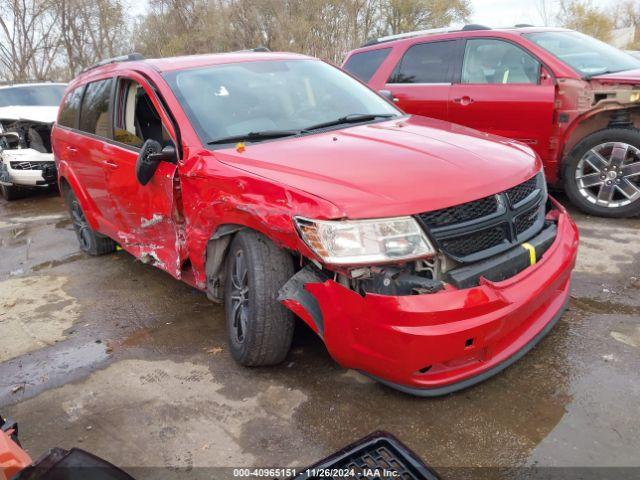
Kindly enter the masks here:
<path id="1" fill-rule="evenodd" d="M 623 142 L 596 145 L 578 162 L 575 179 L 580 194 L 594 205 L 629 205 L 640 198 L 640 150 Z"/>

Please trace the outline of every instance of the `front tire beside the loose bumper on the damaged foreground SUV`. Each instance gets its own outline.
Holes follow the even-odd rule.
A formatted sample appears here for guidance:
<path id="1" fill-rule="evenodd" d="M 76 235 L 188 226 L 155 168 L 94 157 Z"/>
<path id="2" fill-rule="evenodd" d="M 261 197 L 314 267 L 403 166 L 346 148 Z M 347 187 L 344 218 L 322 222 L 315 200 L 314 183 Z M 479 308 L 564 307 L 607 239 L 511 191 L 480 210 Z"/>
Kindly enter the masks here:
<path id="1" fill-rule="evenodd" d="M 241 365 L 276 365 L 287 356 L 295 320 L 276 298 L 293 274 L 291 255 L 264 235 L 236 234 L 227 255 L 225 317 L 231 355 Z"/>

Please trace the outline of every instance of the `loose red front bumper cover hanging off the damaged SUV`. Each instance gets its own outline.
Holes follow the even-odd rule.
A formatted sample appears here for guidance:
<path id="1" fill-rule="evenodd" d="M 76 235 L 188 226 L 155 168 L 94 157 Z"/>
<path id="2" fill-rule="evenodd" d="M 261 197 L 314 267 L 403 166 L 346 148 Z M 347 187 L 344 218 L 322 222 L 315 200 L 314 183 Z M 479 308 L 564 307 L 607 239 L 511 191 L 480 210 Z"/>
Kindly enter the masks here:
<path id="1" fill-rule="evenodd" d="M 578 231 L 552 202 L 548 217 L 557 226 L 555 240 L 535 265 L 506 280 L 481 278 L 475 287 L 423 295 L 363 297 L 327 279 L 305 283 L 304 294 L 281 301 L 310 324 L 345 368 L 415 395 L 466 388 L 521 358 L 566 307 Z"/>

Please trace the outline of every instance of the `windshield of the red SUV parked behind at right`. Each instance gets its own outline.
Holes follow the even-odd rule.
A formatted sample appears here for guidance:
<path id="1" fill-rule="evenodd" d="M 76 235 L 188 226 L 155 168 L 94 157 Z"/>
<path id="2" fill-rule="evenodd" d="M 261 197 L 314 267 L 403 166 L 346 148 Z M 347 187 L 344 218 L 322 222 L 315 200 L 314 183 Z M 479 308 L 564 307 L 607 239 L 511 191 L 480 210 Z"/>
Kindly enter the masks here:
<path id="1" fill-rule="evenodd" d="M 586 77 L 640 68 L 640 60 L 582 33 L 539 32 L 525 36 Z"/>

